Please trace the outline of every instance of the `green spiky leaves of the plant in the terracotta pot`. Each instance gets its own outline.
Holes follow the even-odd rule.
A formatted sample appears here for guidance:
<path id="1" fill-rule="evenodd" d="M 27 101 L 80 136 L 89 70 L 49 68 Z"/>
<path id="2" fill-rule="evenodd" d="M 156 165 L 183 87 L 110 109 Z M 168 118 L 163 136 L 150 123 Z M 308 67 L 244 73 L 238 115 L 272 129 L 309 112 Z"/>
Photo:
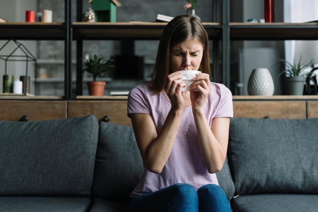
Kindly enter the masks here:
<path id="1" fill-rule="evenodd" d="M 114 65 L 111 63 L 114 60 L 104 60 L 104 58 L 97 58 L 96 54 L 94 55 L 93 59 L 85 59 L 84 65 L 86 66 L 83 69 L 83 72 L 88 72 L 93 74 L 94 81 L 96 81 L 96 77 L 100 77 L 103 75 L 104 72 L 107 72 L 114 68 Z"/>

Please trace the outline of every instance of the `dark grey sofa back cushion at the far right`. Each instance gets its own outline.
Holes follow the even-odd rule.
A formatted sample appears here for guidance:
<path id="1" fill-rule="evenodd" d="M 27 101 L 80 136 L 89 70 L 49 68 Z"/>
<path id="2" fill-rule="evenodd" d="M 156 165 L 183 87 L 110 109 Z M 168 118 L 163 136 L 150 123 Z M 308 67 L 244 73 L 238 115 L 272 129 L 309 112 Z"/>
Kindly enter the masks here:
<path id="1" fill-rule="evenodd" d="M 317 129 L 317 118 L 232 118 L 228 157 L 236 194 L 317 194 Z"/>

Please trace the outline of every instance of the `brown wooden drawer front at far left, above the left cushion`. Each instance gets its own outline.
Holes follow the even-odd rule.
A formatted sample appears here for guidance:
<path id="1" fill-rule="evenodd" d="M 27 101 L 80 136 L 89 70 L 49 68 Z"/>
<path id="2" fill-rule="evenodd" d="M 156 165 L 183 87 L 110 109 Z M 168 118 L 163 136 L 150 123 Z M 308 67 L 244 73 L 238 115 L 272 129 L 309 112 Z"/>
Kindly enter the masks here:
<path id="1" fill-rule="evenodd" d="M 0 100 L 0 120 L 38 121 L 66 119 L 66 101 L 42 100 Z"/>

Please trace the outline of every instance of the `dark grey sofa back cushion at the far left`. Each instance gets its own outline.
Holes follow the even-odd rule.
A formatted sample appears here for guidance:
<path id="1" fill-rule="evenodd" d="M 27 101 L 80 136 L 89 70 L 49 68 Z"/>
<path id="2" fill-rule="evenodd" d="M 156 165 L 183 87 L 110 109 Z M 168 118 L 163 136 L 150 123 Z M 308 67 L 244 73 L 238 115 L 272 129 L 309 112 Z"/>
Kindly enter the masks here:
<path id="1" fill-rule="evenodd" d="M 0 196 L 90 195 L 95 116 L 0 121 Z"/>

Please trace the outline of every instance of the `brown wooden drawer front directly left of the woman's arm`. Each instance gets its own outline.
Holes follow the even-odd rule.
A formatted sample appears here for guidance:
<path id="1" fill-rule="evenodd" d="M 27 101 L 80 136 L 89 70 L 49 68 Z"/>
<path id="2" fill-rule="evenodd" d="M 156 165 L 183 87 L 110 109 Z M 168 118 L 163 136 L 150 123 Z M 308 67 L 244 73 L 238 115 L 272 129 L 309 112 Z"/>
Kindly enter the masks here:
<path id="1" fill-rule="evenodd" d="M 69 118 L 89 114 L 94 114 L 99 122 L 104 120 L 109 123 L 132 126 L 127 116 L 127 100 L 68 101 Z"/>

